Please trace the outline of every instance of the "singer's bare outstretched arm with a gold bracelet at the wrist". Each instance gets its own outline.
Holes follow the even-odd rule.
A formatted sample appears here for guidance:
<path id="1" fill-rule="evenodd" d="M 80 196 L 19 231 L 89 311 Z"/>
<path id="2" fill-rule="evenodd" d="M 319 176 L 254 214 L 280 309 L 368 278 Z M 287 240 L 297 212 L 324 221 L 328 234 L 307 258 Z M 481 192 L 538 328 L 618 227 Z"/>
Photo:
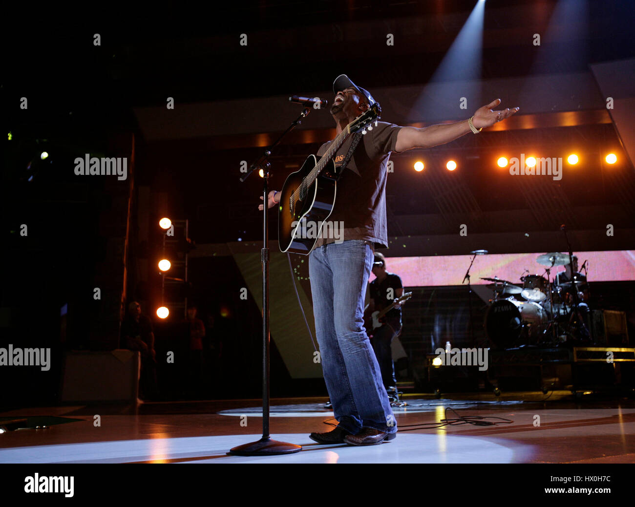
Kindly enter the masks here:
<path id="1" fill-rule="evenodd" d="M 518 107 L 512 109 L 502 109 L 493 111 L 493 107 L 500 104 L 500 98 L 493 100 L 488 105 L 484 105 L 474 113 L 472 124 L 475 128 L 485 128 L 497 121 L 509 118 L 512 114 L 518 112 Z M 406 151 L 412 148 L 430 148 L 439 144 L 453 141 L 457 137 L 471 132 L 467 119 L 457 121 L 455 123 L 441 123 L 439 125 L 431 125 L 424 128 L 403 127 L 397 134 L 397 143 L 395 151 Z"/>

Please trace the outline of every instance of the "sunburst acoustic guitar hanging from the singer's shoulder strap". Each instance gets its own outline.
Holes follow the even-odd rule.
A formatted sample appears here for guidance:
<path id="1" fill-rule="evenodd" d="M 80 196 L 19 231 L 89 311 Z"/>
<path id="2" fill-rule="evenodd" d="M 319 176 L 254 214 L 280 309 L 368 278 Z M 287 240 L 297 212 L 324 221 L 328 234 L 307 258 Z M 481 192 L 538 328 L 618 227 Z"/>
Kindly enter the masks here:
<path id="1" fill-rule="evenodd" d="M 338 175 L 333 157 L 349 134 L 366 134 L 382 112 L 375 102 L 331 142 L 323 156 L 310 155 L 299 171 L 291 173 L 280 192 L 278 205 L 278 245 L 281 252 L 308 255 L 313 249 L 335 204 Z"/>

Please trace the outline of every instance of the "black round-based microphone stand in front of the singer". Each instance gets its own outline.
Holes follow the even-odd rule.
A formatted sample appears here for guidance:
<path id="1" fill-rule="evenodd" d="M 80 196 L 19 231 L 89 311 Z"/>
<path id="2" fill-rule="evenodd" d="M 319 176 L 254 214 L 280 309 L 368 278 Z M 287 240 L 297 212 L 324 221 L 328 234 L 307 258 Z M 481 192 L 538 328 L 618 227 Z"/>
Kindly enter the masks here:
<path id="1" fill-rule="evenodd" d="M 311 112 L 311 107 L 305 107 L 300 116 L 276 139 L 276 142 L 265 149 L 265 152 L 253 163 L 250 170 L 240 180 L 244 182 L 255 170 L 262 169 L 262 250 L 260 250 L 260 261 L 262 262 L 262 438 L 257 442 L 244 443 L 237 447 L 232 447 L 227 454 L 234 456 L 273 456 L 274 454 L 291 454 L 302 450 L 302 446 L 295 443 L 278 442 L 271 440 L 269 436 L 269 223 L 267 222 L 267 212 L 269 210 L 269 168 L 271 164 L 267 158 L 271 156 L 271 150 L 280 144 L 281 140 L 296 126 L 302 123 L 302 118 Z"/>

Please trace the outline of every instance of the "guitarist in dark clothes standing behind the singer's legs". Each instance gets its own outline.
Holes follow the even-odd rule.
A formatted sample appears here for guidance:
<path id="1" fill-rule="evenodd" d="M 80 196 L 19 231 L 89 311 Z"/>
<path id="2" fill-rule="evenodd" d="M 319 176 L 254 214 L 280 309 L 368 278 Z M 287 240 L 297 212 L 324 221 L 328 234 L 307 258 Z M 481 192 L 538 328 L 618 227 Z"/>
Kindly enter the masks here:
<path id="1" fill-rule="evenodd" d="M 383 310 L 391 306 L 393 299 L 403 295 L 403 285 L 398 274 L 386 271 L 386 260 L 384 254 L 375 252 L 375 262 L 373 262 L 373 274 L 377 276 L 375 280 L 368 284 L 368 314 L 375 310 Z M 391 290 L 392 289 L 392 290 Z M 382 382 L 388 393 L 397 392 L 397 379 L 395 378 L 395 368 L 392 362 L 391 342 L 394 337 L 401 333 L 401 305 L 396 303 L 394 308 L 382 318 L 382 326 L 373 329 L 373 321 L 370 320 L 366 326 L 366 333 L 371 337 L 371 344 L 377 356 L 379 369 L 382 372 Z"/>

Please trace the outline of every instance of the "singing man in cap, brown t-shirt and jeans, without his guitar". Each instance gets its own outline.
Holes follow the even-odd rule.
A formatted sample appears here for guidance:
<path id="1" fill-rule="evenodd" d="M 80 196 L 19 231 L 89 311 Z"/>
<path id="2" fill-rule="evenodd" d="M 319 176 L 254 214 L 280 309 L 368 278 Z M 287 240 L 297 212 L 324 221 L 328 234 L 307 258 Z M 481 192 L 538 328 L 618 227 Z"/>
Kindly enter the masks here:
<path id="1" fill-rule="evenodd" d="M 333 93 L 330 112 L 338 135 L 375 104 L 370 93 L 345 74 L 335 79 Z M 375 249 L 388 248 L 388 159 L 392 151 L 432 147 L 470 132 L 478 133 L 518 111 L 490 109 L 498 104 L 497 99 L 481 107 L 469 120 L 424 128 L 373 123 L 366 135 L 349 135 L 333 157 L 341 176 L 328 220 L 342 222 L 344 234 L 330 238 L 322 229 L 309 255 L 309 278 L 324 381 L 338 426 L 325 433 L 311 433 L 312 440 L 373 445 L 396 436 L 396 421 L 363 320 L 364 293 Z M 359 145 L 350 152 L 355 137 Z M 319 148 L 319 156 L 330 142 Z M 343 169 L 344 162 L 347 165 Z M 279 192 L 271 191 L 267 206 L 279 205 L 279 199 Z"/>

